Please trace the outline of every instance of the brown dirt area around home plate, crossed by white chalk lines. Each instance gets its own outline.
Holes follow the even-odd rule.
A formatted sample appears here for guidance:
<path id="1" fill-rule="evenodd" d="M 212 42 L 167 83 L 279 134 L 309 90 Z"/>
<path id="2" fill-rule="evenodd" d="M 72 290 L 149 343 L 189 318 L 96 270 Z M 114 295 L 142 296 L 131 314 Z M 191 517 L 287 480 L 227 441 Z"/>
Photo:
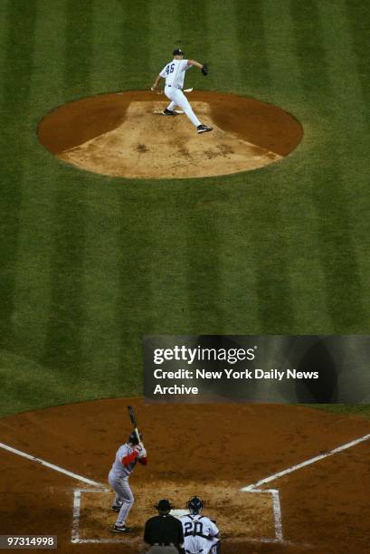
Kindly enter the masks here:
<path id="1" fill-rule="evenodd" d="M 274 534 L 269 495 L 253 498 L 240 492 L 369 434 L 370 422 L 356 417 L 299 406 L 157 405 L 139 398 L 114 399 L 5 417 L 0 440 L 108 486 L 115 451 L 129 431 L 122 417 L 128 403 L 137 407 L 149 459 L 130 479 L 136 495 L 134 535 L 104 542 L 114 521 L 111 497 L 109 492 L 84 492 L 80 536 L 102 541 L 71 544 L 73 489 L 91 487 L 4 450 L 0 534 L 57 534 L 62 552 L 141 552 L 141 533 L 153 501 L 169 496 L 182 508 L 189 494 L 197 493 L 219 521 L 224 554 L 368 551 L 369 441 L 263 487 L 280 491 L 280 544 L 264 542 Z"/>

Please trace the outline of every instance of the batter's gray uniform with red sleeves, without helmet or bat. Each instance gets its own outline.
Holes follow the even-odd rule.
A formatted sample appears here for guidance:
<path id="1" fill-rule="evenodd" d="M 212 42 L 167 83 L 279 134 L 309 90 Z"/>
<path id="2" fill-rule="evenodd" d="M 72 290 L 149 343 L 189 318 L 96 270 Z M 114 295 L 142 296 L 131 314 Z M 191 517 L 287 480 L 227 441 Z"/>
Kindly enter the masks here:
<path id="1" fill-rule="evenodd" d="M 112 469 L 109 472 L 109 485 L 116 492 L 114 503 L 116 506 L 120 506 L 116 525 L 123 525 L 125 523 L 128 512 L 131 510 L 131 506 L 134 503 L 134 495 L 128 484 L 128 477 L 133 472 L 139 456 L 138 448 L 133 444 L 121 444 L 116 453 L 116 459 L 112 465 Z M 140 461 L 141 463 L 146 463 L 147 459 L 145 458 L 145 462 L 143 458 L 140 459 Z M 125 462 L 128 462 L 128 464 L 125 464 Z"/>

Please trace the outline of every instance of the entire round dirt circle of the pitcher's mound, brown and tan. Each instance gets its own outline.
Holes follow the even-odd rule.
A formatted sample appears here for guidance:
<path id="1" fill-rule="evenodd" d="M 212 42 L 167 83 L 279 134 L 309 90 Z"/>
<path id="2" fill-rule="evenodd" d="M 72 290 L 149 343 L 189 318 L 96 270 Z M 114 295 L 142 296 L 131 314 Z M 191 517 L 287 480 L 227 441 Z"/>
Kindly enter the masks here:
<path id="1" fill-rule="evenodd" d="M 52 110 L 41 120 L 38 138 L 73 166 L 149 179 L 249 171 L 288 156 L 302 139 L 297 119 L 260 100 L 212 91 L 193 91 L 188 98 L 212 132 L 199 135 L 184 113 L 162 115 L 165 95 L 126 91 Z"/>

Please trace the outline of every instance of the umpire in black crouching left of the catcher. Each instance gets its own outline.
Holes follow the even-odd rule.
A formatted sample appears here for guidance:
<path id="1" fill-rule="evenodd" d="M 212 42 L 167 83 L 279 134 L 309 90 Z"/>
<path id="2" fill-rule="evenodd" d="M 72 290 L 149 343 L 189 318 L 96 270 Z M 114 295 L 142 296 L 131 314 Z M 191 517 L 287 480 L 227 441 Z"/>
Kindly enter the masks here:
<path id="1" fill-rule="evenodd" d="M 156 508 L 159 515 L 145 524 L 144 540 L 152 547 L 147 554 L 178 554 L 184 542 L 183 525 L 169 514 L 172 508 L 170 501 L 161 500 Z"/>

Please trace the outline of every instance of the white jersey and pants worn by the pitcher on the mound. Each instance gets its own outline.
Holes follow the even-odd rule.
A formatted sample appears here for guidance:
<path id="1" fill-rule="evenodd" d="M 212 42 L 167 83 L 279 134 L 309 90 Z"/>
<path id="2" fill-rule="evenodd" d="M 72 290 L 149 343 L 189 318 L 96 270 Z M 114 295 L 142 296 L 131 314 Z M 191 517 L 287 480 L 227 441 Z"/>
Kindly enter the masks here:
<path id="1" fill-rule="evenodd" d="M 195 127 L 199 127 L 201 122 L 194 114 L 189 100 L 185 97 L 182 88 L 184 86 L 185 72 L 192 66 L 187 60 L 173 60 L 168 62 L 159 73 L 163 79 L 166 79 L 165 94 L 171 100 L 167 110 L 174 110 L 175 106 L 182 108 Z"/>

